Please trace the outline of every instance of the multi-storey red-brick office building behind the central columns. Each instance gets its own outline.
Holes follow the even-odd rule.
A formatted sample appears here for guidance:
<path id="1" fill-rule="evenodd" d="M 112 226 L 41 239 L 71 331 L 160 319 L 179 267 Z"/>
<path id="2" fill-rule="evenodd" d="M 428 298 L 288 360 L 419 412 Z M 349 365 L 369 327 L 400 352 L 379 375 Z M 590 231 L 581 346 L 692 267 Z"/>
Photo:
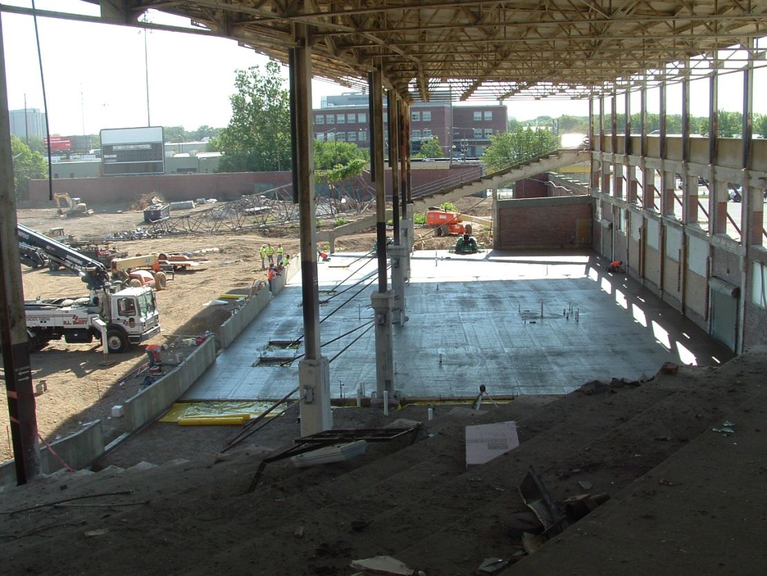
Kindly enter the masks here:
<path id="1" fill-rule="evenodd" d="M 321 105 L 313 111 L 315 140 L 370 147 L 367 94 L 328 96 Z M 417 154 L 423 142 L 437 137 L 443 157 L 449 157 L 451 151 L 453 157 L 479 157 L 489 145 L 490 136 L 505 131 L 507 123 L 508 113 L 502 105 L 418 102 L 410 106 L 410 149 Z"/>

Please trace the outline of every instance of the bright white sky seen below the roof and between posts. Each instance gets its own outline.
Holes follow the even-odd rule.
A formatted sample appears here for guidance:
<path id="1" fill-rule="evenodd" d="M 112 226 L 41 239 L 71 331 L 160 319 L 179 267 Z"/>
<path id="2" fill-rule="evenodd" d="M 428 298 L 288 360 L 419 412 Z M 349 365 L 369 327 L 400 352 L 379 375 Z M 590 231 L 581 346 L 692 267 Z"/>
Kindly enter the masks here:
<path id="1" fill-rule="evenodd" d="M 31 6 L 31 0 L 3 2 Z M 91 15 L 97 15 L 98 10 L 79 0 L 37 0 L 35 4 L 41 10 Z M 0 18 L 8 107 L 11 110 L 25 108 L 26 102 L 27 108 L 42 109 L 33 20 L 31 16 L 9 13 L 2 13 Z M 156 12 L 151 12 L 149 18 L 152 22 L 182 23 Z M 183 25 L 188 23 L 183 22 Z M 187 131 L 202 125 L 224 127 L 231 115 L 229 97 L 235 91 L 235 71 L 253 65 L 263 67 L 267 61 L 265 56 L 239 47 L 236 41 L 149 31 L 146 33 L 147 114 L 143 31 L 54 18 L 38 18 L 38 29 L 51 134 L 64 136 L 97 134 L 102 128 L 146 126 L 147 115 L 154 126 L 182 125 Z M 314 108 L 320 107 L 321 96 L 344 91 L 349 88 L 314 81 Z M 732 93 L 731 90 L 724 91 L 724 94 Z M 724 100 L 726 98 L 720 95 L 720 104 L 723 104 L 720 108 L 727 105 Z M 698 108 L 704 110 L 700 114 L 707 115 L 707 96 L 705 106 L 700 105 L 700 99 L 696 102 Z M 518 120 L 539 115 L 588 114 L 588 101 L 584 100 L 509 101 L 506 104 L 509 118 Z M 732 109 L 739 109 L 738 101 Z M 693 110 L 693 114 L 699 113 Z"/>

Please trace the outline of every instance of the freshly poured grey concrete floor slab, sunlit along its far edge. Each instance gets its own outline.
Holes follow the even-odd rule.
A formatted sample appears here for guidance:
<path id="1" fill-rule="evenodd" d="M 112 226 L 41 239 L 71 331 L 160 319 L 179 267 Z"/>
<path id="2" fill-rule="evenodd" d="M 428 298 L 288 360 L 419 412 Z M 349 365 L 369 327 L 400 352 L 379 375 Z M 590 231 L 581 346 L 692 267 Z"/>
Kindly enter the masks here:
<path id="1" fill-rule="evenodd" d="M 394 388 L 408 399 L 476 396 L 480 384 L 491 396 L 564 394 L 591 379 L 652 376 L 667 361 L 719 366 L 732 358 L 639 283 L 606 273 L 604 265 L 588 253 L 413 253 L 410 319 L 393 328 Z M 318 268 L 331 393 L 355 396 L 360 386 L 370 396 L 374 329 L 360 334 L 373 322 L 377 264 L 337 253 Z M 298 386 L 298 360 L 278 364 L 304 352 L 283 347 L 303 331 L 301 275 L 294 278 L 185 399 L 279 399 Z"/>

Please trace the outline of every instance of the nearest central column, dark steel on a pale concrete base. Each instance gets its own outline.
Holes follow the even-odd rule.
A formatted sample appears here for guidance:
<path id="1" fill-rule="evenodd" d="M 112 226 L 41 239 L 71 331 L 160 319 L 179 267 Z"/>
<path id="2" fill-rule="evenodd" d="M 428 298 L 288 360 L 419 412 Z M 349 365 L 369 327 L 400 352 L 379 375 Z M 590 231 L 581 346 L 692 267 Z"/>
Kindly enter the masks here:
<path id="1" fill-rule="evenodd" d="M 328 359 L 320 352 L 317 281 L 317 227 L 314 214 L 314 134 L 311 122 L 311 38 L 306 25 L 295 26 L 297 48 L 290 54 L 291 124 L 295 156 L 294 188 L 301 225 L 301 293 L 304 308 L 304 359 L 298 363 L 301 435 L 333 427 Z"/>

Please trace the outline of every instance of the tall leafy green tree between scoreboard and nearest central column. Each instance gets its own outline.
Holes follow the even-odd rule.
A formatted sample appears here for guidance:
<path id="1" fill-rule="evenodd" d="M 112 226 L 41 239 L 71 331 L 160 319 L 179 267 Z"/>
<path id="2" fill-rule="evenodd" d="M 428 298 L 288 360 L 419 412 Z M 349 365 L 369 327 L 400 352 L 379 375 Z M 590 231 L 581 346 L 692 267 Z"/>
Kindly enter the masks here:
<path id="1" fill-rule="evenodd" d="M 270 61 L 238 70 L 232 94 L 232 119 L 220 134 L 221 172 L 262 172 L 291 167 L 288 91 L 280 65 Z"/>

